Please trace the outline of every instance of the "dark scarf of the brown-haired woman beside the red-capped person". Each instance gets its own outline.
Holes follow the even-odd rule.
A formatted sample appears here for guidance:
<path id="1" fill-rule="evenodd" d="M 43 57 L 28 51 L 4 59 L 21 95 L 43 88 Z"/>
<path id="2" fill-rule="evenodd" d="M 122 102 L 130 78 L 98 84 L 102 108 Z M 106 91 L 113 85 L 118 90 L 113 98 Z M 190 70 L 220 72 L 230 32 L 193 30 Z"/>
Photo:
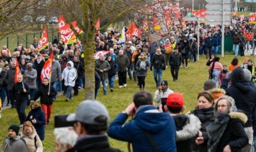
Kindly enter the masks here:
<path id="1" fill-rule="evenodd" d="M 205 109 L 199 109 L 197 107 L 191 113 L 193 113 L 196 117 L 198 117 L 201 122 L 214 119 L 213 107 L 205 108 Z"/>

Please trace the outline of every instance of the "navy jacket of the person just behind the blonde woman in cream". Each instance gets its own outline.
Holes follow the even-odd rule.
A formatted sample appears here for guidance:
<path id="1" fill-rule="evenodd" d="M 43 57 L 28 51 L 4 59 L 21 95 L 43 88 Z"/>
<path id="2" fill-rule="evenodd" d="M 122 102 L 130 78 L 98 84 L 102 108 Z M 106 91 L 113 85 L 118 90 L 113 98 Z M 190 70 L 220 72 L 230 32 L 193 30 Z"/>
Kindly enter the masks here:
<path id="1" fill-rule="evenodd" d="M 32 119 L 37 120 L 37 123 L 35 123 L 35 124 L 32 123 Z M 41 107 L 38 106 L 35 109 L 31 109 L 31 111 L 29 111 L 29 114 L 27 115 L 26 121 L 30 121 L 34 125 L 38 136 L 43 141 L 44 140 L 45 117 L 44 117 L 44 113 L 43 113 Z"/>

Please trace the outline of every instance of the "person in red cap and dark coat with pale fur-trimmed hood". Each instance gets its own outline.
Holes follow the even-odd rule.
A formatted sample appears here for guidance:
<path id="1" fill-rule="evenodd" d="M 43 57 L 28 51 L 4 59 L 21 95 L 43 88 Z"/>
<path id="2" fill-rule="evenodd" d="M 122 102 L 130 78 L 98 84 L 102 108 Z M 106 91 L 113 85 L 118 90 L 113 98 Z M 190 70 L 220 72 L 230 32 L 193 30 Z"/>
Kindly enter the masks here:
<path id="1" fill-rule="evenodd" d="M 182 94 L 174 92 L 168 95 L 165 111 L 173 117 L 176 125 L 176 148 L 177 152 L 192 151 L 194 137 L 201 128 L 200 120 L 193 114 L 184 115 L 184 98 Z"/>

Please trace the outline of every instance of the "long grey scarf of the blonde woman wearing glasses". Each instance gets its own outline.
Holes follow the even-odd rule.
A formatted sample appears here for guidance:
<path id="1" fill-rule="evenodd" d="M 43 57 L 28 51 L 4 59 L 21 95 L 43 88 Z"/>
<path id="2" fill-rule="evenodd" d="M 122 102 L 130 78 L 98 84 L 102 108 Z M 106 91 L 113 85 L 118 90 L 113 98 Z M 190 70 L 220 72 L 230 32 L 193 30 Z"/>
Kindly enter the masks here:
<path id="1" fill-rule="evenodd" d="M 216 113 L 216 120 L 214 123 L 210 123 L 206 127 L 208 133 L 208 152 L 215 152 L 218 148 L 219 141 L 221 140 L 226 127 L 227 123 L 229 123 L 230 116 L 229 112 L 225 113 Z"/>

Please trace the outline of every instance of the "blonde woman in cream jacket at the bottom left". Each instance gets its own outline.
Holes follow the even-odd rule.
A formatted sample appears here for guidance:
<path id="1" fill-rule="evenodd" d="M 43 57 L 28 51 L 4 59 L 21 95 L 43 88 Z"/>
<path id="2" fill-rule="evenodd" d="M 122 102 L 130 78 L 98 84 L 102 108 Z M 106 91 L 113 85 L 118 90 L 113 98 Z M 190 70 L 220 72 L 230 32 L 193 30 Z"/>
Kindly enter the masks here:
<path id="1" fill-rule="evenodd" d="M 27 121 L 24 123 L 20 134 L 21 138 L 25 140 L 27 148 L 30 152 L 43 151 L 43 144 L 31 122 Z"/>

